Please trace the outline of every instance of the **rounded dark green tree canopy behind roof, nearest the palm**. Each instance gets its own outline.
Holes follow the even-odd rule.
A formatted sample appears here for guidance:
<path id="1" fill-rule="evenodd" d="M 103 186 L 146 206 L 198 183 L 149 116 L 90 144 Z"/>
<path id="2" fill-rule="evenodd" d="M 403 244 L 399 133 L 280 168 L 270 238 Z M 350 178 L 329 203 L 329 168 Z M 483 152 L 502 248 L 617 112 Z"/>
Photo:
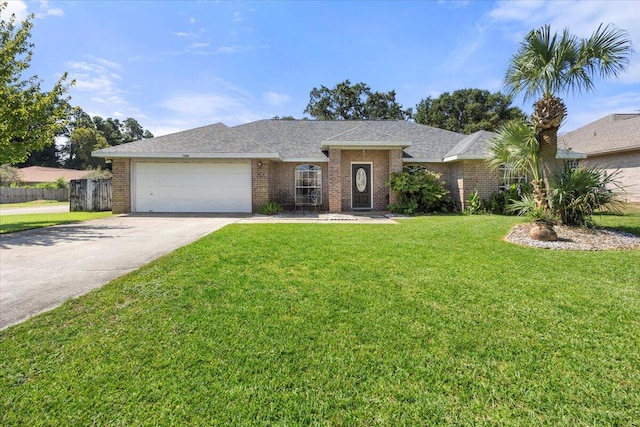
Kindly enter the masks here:
<path id="1" fill-rule="evenodd" d="M 497 131 L 504 123 L 525 117 L 520 108 L 511 106 L 508 95 L 482 89 L 460 89 L 420 101 L 414 120 L 423 125 L 470 134 L 479 130 Z"/>

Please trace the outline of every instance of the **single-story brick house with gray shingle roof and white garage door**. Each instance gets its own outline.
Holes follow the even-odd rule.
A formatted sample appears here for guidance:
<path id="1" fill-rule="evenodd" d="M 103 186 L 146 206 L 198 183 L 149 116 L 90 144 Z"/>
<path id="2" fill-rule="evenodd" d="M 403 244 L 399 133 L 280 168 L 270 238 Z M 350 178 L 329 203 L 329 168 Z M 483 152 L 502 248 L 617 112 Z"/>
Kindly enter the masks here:
<path id="1" fill-rule="evenodd" d="M 392 172 L 441 174 L 460 208 L 503 184 L 485 160 L 491 132 L 463 135 L 406 121 L 222 123 L 104 148 L 113 211 L 256 212 L 268 201 L 329 212 L 386 210 Z"/>

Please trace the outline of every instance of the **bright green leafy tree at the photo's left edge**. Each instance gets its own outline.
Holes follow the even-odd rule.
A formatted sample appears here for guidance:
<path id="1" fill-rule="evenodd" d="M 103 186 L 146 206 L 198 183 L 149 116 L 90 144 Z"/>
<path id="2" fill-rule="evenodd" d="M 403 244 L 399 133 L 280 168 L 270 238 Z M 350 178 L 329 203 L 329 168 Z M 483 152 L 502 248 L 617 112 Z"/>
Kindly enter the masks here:
<path id="1" fill-rule="evenodd" d="M 0 3 L 0 13 L 6 7 Z M 31 152 L 53 144 L 65 118 L 67 74 L 49 92 L 42 91 L 37 75 L 23 76 L 33 56 L 33 18 L 0 20 L 0 164 L 23 162 Z"/>

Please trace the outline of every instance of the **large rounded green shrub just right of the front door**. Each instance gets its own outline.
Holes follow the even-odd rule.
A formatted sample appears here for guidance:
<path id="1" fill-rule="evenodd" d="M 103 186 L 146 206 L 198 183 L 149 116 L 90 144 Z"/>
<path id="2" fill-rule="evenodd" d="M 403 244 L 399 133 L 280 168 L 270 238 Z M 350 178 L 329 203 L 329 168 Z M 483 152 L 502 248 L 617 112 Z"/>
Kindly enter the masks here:
<path id="1" fill-rule="evenodd" d="M 392 212 L 411 215 L 451 210 L 449 192 L 440 181 L 440 174 L 426 168 L 394 172 L 385 185 L 398 195 L 397 203 L 389 205 L 389 210 Z"/>

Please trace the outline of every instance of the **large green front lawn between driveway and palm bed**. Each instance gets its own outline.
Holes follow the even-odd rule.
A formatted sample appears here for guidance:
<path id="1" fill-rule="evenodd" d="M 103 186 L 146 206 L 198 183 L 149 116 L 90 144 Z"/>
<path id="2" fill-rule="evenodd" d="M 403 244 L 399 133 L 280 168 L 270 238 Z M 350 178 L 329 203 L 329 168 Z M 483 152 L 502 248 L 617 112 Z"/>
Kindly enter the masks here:
<path id="1" fill-rule="evenodd" d="M 640 251 L 518 221 L 225 227 L 1 331 L 0 424 L 637 425 Z"/>

